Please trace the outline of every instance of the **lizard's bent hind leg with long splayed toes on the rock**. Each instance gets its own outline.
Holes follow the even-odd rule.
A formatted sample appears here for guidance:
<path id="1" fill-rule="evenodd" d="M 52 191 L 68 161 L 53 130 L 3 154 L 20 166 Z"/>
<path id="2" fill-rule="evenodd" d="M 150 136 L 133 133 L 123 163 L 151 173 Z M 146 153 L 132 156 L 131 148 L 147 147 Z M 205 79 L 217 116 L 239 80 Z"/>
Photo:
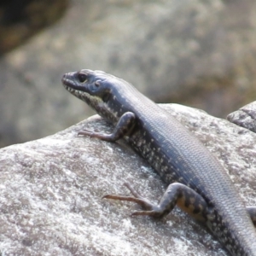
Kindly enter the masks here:
<path id="1" fill-rule="evenodd" d="M 207 202 L 197 194 L 195 190 L 183 185 L 182 183 L 172 183 L 160 198 L 157 205 L 151 203 L 143 196 L 139 195 L 129 183 L 125 187 L 131 191 L 133 196 L 104 195 L 103 198 L 133 201 L 143 207 L 143 211 L 132 212 L 131 215 L 148 215 L 155 218 L 163 218 L 177 205 L 183 211 L 188 212 L 197 220 L 206 221 Z"/>

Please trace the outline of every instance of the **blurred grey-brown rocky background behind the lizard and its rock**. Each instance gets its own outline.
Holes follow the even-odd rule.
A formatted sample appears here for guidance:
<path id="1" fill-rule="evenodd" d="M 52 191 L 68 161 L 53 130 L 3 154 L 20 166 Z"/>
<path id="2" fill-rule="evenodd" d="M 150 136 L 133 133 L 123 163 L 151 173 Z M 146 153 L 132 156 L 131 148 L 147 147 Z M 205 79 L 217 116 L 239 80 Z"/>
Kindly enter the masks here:
<path id="1" fill-rule="evenodd" d="M 256 99 L 254 0 L 0 3 L 0 147 L 93 114 L 61 85 L 100 69 L 155 102 L 225 117 Z"/>

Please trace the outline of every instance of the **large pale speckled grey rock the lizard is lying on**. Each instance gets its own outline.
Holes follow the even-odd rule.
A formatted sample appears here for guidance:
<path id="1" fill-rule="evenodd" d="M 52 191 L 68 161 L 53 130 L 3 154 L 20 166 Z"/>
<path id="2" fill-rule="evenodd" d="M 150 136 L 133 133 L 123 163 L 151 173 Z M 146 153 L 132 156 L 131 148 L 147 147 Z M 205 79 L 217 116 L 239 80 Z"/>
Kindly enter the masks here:
<path id="1" fill-rule="evenodd" d="M 256 135 L 194 108 L 161 106 L 212 151 L 246 204 L 256 205 Z M 162 220 L 131 218 L 136 205 L 102 200 L 109 193 L 130 195 L 125 181 L 153 201 L 165 186 L 124 142 L 79 137 L 84 127 L 112 130 L 93 116 L 53 136 L 0 149 L 2 254 L 226 255 L 177 208 Z"/>

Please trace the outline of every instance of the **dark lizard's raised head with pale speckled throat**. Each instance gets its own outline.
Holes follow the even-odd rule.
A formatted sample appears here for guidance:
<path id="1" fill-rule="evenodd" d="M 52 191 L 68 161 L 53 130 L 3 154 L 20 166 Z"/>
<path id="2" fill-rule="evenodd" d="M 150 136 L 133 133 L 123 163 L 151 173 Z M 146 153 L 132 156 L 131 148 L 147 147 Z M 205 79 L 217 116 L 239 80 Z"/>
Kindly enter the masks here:
<path id="1" fill-rule="evenodd" d="M 62 78 L 62 84 L 70 93 L 111 121 L 116 121 L 122 114 L 117 92 L 125 88 L 125 83 L 111 74 L 90 69 L 66 73 Z"/>

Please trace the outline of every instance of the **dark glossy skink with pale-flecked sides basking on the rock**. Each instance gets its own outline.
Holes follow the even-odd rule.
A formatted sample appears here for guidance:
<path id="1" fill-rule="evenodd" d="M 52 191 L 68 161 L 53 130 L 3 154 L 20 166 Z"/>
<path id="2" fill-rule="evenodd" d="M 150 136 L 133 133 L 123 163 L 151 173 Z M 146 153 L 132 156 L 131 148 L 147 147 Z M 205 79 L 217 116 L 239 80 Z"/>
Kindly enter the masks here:
<path id="1" fill-rule="evenodd" d="M 132 215 L 163 218 L 177 205 L 205 224 L 230 255 L 256 256 L 256 207 L 246 207 L 224 167 L 190 131 L 124 79 L 90 69 L 66 73 L 64 87 L 113 124 L 113 132 L 79 131 L 108 142 L 125 138 L 168 184 L 154 205 L 125 183 L 133 196 Z"/>

